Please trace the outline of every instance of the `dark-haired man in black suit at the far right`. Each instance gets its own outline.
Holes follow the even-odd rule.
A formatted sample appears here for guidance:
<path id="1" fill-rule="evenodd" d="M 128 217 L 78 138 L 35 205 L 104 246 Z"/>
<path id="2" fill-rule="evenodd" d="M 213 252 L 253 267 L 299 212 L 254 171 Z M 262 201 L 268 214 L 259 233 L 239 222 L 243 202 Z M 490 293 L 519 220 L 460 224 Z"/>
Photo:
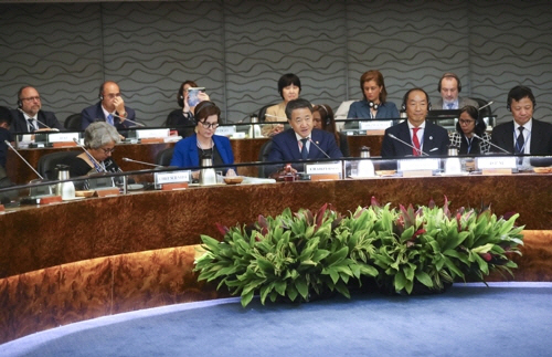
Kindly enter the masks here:
<path id="1" fill-rule="evenodd" d="M 517 85 L 508 93 L 513 120 L 492 128 L 491 143 L 512 154 L 552 155 L 552 125 L 533 118 L 531 88 Z M 496 147 L 492 151 L 500 153 Z"/>

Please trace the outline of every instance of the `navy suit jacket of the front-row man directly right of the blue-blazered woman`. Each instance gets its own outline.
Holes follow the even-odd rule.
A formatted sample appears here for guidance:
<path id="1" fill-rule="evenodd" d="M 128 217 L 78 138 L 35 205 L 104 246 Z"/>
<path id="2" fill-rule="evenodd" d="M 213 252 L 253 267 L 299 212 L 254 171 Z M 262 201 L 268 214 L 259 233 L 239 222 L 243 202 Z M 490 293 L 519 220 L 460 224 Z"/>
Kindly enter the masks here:
<path id="1" fill-rule="evenodd" d="M 341 150 L 338 148 L 336 143 L 336 137 L 320 129 L 312 129 L 310 133 L 310 138 L 316 145 L 310 143 L 308 159 L 327 159 L 328 157 L 323 154 L 328 154 L 328 156 L 332 159 L 339 159 L 343 157 Z M 323 153 L 320 150 L 322 149 Z M 297 137 L 295 135 L 294 129 L 287 129 L 278 135 L 273 137 L 273 146 L 270 148 L 270 153 L 268 154 L 268 161 L 299 161 L 302 160 L 301 153 L 299 151 L 299 146 L 297 144 Z M 265 168 L 265 174 L 269 175 L 277 171 L 282 165 L 273 165 Z M 294 165 L 299 171 L 302 171 L 304 165 Z"/>

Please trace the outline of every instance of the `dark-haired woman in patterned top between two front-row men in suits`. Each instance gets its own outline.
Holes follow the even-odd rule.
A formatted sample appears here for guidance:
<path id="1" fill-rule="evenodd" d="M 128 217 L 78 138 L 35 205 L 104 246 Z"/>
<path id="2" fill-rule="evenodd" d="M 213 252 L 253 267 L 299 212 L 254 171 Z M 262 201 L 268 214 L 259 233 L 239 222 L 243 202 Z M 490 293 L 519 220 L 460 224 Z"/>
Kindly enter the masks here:
<path id="1" fill-rule="evenodd" d="M 475 106 L 467 105 L 460 109 L 460 116 L 456 124 L 456 132 L 452 133 L 450 145 L 459 148 L 458 154 L 479 155 L 490 150 L 490 135 L 485 133 L 487 125 L 479 117 L 479 111 Z M 476 134 L 485 140 L 474 136 Z"/>

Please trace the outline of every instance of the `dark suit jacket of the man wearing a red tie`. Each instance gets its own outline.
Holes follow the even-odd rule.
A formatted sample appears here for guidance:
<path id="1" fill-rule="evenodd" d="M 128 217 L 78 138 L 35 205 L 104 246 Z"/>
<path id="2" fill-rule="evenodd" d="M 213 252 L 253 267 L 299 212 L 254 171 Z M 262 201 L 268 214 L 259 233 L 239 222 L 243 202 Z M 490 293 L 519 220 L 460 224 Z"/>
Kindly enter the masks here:
<path id="1" fill-rule="evenodd" d="M 401 140 L 408 144 L 412 143 L 406 120 L 385 129 L 385 135 L 381 146 L 381 156 L 383 158 L 412 156 L 411 147 L 391 138 L 389 134 L 393 134 Z M 428 154 L 429 156 L 447 155 L 449 144 L 448 133 L 445 128 L 429 122 L 425 122 L 422 151 Z"/>

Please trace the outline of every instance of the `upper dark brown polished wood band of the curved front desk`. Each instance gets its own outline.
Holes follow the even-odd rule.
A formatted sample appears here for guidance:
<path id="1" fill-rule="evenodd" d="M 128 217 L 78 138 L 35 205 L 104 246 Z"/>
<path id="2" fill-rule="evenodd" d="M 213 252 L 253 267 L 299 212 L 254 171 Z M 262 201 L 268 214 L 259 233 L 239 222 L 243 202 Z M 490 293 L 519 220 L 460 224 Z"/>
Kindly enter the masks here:
<path id="1" fill-rule="evenodd" d="M 233 225 L 285 208 L 341 212 L 380 202 L 452 208 L 491 204 L 497 214 L 519 212 L 527 229 L 552 229 L 549 175 L 374 178 L 255 186 L 198 187 L 91 198 L 0 216 L 0 277 L 67 262 L 152 249 L 198 244 L 200 234 L 220 237 L 215 223 Z"/>

